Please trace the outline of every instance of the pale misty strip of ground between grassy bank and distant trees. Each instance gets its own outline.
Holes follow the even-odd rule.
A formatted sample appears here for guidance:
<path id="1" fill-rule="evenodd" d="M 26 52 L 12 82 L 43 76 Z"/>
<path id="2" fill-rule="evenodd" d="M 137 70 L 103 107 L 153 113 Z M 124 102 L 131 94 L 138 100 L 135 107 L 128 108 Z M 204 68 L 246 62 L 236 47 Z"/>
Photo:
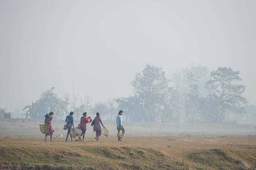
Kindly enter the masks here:
<path id="1" fill-rule="evenodd" d="M 80 122 L 75 121 L 74 125 L 77 125 Z M 110 137 L 117 136 L 117 129 L 115 121 L 103 121 L 106 129 L 109 130 Z M 41 122 L 1 122 L 0 124 L 0 138 L 41 138 L 44 141 L 44 134 L 40 132 L 39 124 Z M 63 123 L 52 123 L 52 127 L 55 130 L 53 133 L 53 140 L 63 140 L 65 141 L 65 136 L 67 130 L 63 129 L 65 122 Z M 167 124 L 167 123 L 136 123 L 136 122 L 123 122 L 125 129 L 126 137 L 135 137 L 135 136 L 225 136 L 225 135 L 256 135 L 256 126 L 255 125 L 241 125 L 241 124 L 198 124 L 198 125 L 189 125 L 189 124 Z M 63 137 L 56 137 L 62 134 Z M 88 137 L 95 137 L 95 132 L 93 133 L 93 127 L 90 124 L 87 124 L 87 131 L 85 134 L 85 140 L 87 141 Z M 48 137 L 49 138 L 49 137 Z M 101 135 L 102 139 L 106 138 Z M 76 137 L 75 139 L 78 139 Z M 93 138 L 94 139 L 94 138 Z"/>

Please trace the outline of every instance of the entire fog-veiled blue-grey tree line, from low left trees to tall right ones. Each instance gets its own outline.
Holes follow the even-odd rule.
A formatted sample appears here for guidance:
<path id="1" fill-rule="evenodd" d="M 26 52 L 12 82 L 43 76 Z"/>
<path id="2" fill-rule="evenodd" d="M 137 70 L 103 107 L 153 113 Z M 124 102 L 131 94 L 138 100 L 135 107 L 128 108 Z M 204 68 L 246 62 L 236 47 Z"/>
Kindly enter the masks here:
<path id="1" fill-rule="evenodd" d="M 210 73 L 206 67 L 185 68 L 167 79 L 162 68 L 147 64 L 131 82 L 132 96 L 96 103 L 90 111 L 100 112 L 109 120 L 115 119 L 122 109 L 127 120 L 136 122 L 223 123 L 231 112 L 245 113 L 242 107 L 247 103 L 242 97 L 245 86 L 239 81 L 239 72 L 231 68 L 218 68 Z M 43 92 L 38 101 L 23 109 L 27 109 L 27 117 L 42 119 L 53 111 L 57 120 L 61 120 L 72 110 L 79 113 L 79 119 L 88 111 L 92 98 L 84 96 L 78 105 L 79 95 L 74 95 L 70 103 L 68 94 L 61 99 L 53 89 Z"/>

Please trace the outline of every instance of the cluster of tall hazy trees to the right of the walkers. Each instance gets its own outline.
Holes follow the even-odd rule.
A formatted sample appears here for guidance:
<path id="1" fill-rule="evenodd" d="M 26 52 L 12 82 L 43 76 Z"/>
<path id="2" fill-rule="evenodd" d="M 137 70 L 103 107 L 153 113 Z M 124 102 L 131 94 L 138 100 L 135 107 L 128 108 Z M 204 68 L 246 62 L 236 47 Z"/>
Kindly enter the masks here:
<path id="1" fill-rule="evenodd" d="M 245 113 L 245 86 L 239 72 L 218 68 L 208 74 L 193 67 L 173 74 L 168 80 L 162 68 L 146 65 L 132 81 L 134 95 L 116 99 L 133 121 L 223 123 L 228 113 Z M 172 86 L 170 85 L 172 83 Z"/>

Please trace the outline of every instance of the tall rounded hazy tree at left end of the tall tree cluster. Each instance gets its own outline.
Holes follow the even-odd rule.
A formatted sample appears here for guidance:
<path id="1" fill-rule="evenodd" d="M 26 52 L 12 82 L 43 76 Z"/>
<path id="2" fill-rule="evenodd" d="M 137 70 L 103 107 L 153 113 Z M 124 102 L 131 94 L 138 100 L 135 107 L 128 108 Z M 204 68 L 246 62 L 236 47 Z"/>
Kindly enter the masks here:
<path id="1" fill-rule="evenodd" d="M 146 121 L 155 121 L 164 107 L 164 97 L 168 90 L 168 80 L 164 71 L 162 68 L 147 64 L 142 72 L 136 73 L 131 84 L 135 96 L 143 105 L 143 112 L 137 114 L 142 114 Z"/>

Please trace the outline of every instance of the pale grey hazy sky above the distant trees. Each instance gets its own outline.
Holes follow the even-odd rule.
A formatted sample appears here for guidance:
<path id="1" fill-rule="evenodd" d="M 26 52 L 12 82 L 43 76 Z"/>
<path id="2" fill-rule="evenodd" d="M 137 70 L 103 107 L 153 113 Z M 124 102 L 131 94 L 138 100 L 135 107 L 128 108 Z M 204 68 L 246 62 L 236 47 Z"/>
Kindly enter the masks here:
<path id="1" fill-rule="evenodd" d="M 0 107 L 23 109 L 43 91 L 132 95 L 146 64 L 167 78 L 192 64 L 240 71 L 256 104 L 256 1 L 0 1 Z"/>

